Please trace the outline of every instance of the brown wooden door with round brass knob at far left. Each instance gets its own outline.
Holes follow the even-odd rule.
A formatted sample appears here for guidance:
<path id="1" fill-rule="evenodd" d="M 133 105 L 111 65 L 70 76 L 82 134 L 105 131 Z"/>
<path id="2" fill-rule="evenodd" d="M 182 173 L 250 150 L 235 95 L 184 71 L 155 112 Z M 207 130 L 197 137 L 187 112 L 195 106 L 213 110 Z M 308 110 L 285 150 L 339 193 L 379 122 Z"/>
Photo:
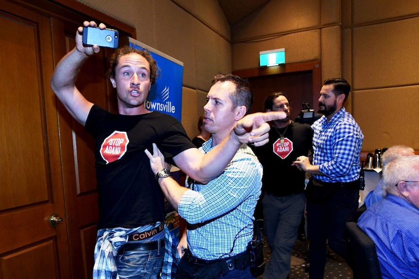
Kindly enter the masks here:
<path id="1" fill-rule="evenodd" d="M 70 279 L 50 19 L 0 0 L 0 26 L 0 278 Z"/>

